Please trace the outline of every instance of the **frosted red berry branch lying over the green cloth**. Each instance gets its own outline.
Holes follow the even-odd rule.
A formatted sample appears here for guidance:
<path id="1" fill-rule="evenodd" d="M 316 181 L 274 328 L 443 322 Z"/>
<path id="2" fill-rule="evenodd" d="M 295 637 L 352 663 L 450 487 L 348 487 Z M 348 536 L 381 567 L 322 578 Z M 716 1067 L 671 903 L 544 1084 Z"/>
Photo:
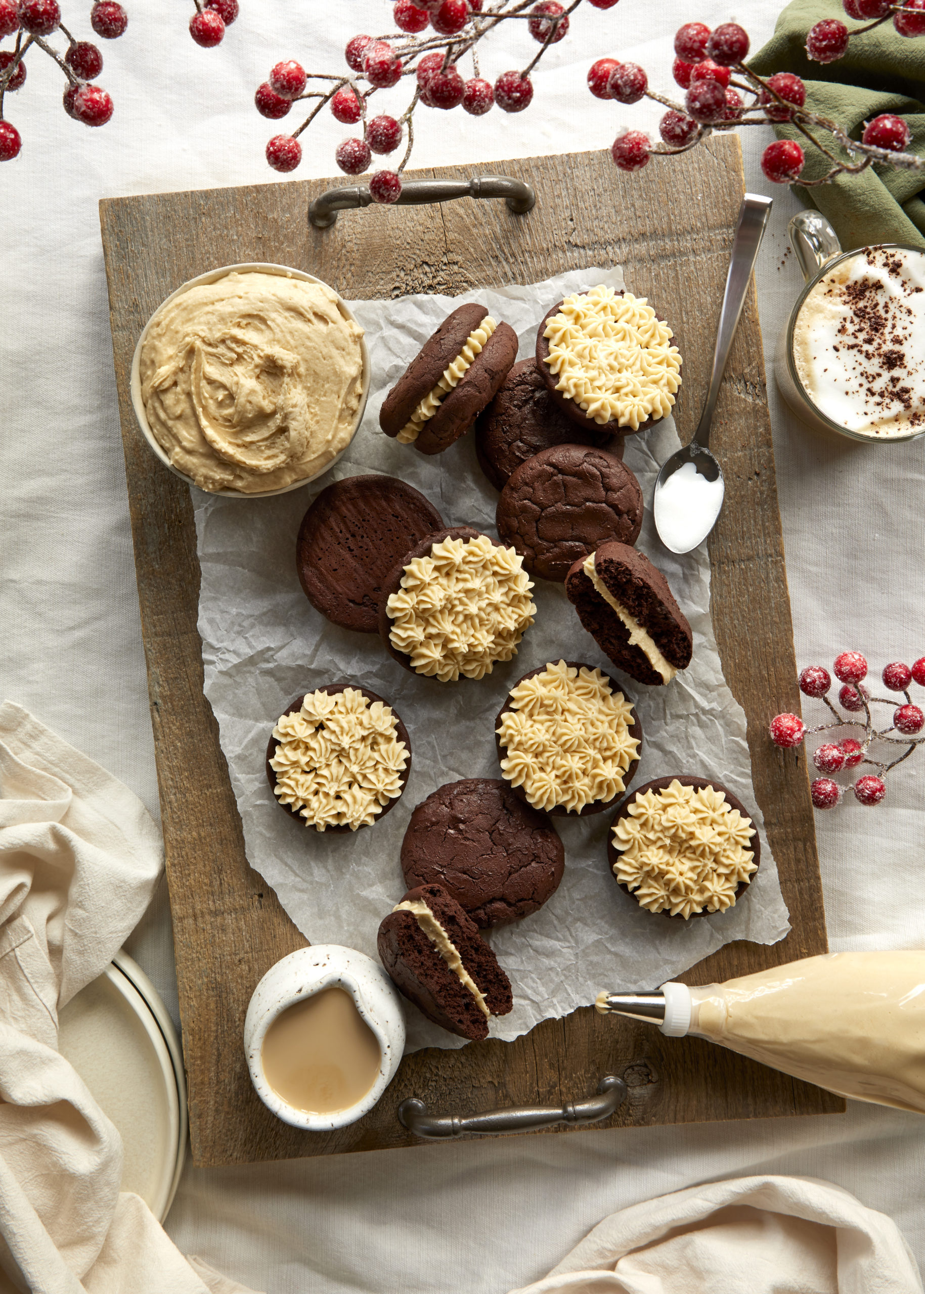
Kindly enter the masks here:
<path id="1" fill-rule="evenodd" d="M 893 21 L 900 36 L 925 35 L 925 0 L 842 0 L 847 17 L 865 21 L 849 30 L 837 18 L 817 22 L 806 38 L 807 57 L 819 63 L 843 58 L 849 41 Z M 713 31 L 702 22 L 685 22 L 675 35 L 674 78 L 687 91 L 683 104 L 675 104 L 649 89 L 645 71 L 636 63 L 599 58 L 588 71 L 588 89 L 597 98 L 637 104 L 652 98 L 668 111 L 661 120 L 662 146 L 656 146 L 641 131 L 622 131 L 610 149 L 622 171 L 639 171 L 653 155 L 685 153 L 713 131 L 732 131 L 740 126 L 767 126 L 790 122 L 807 144 L 832 163 L 817 180 L 801 179 L 806 163 L 805 146 L 795 140 L 775 140 L 762 154 L 762 171 L 775 184 L 806 186 L 828 184 L 837 175 L 858 175 L 872 163 L 920 171 L 925 162 L 906 153 L 909 131 L 893 113 L 867 122 L 860 140 L 852 140 L 837 123 L 805 107 L 806 85 L 793 72 L 759 76 L 745 65 L 749 35 L 736 22 L 724 22 Z M 745 97 L 744 97 L 745 96 Z M 819 132 L 839 144 L 852 160 L 837 157 Z"/>

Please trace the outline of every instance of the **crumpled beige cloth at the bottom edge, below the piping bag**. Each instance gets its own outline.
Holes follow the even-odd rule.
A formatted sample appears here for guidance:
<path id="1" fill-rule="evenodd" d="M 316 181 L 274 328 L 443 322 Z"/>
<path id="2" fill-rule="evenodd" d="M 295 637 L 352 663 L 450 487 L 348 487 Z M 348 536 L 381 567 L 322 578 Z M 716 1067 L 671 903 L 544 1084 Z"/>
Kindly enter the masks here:
<path id="1" fill-rule="evenodd" d="M 722 1135 L 722 1124 L 718 1135 Z M 621 1209 L 512 1294 L 921 1294 L 896 1224 L 814 1178 L 737 1178 Z"/>

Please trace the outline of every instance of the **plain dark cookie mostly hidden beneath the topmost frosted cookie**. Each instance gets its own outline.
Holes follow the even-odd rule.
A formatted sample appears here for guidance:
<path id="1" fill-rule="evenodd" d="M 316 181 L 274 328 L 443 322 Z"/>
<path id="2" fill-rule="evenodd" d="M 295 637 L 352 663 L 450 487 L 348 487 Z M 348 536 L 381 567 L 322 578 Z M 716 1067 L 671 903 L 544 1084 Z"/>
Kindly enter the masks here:
<path id="1" fill-rule="evenodd" d="M 475 423 L 475 457 L 495 489 L 527 458 L 553 445 L 606 445 L 623 457 L 623 437 L 578 427 L 553 401 L 536 360 L 520 360 Z"/>

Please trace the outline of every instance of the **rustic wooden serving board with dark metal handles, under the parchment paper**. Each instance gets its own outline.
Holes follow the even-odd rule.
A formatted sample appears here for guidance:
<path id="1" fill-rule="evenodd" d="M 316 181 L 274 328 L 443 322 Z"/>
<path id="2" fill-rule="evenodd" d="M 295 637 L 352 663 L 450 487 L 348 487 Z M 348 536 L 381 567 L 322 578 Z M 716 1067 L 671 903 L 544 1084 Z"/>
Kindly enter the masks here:
<path id="1" fill-rule="evenodd" d="M 337 180 L 100 203 L 196 1165 L 418 1144 L 395 1113 L 407 1096 L 421 1097 L 434 1113 L 561 1105 L 591 1096 L 608 1073 L 624 1075 L 630 1099 L 610 1123 L 599 1124 L 605 1127 L 845 1109 L 819 1088 L 709 1043 L 665 1039 L 591 1008 L 548 1020 L 512 1043 L 416 1052 L 378 1106 L 339 1132 L 290 1128 L 251 1088 L 242 1047 L 247 1002 L 263 973 L 306 941 L 245 858 L 218 726 L 202 692 L 193 509 L 187 487 L 155 461 L 136 427 L 132 352 L 161 302 L 219 264 L 276 261 L 310 270 L 347 299 L 389 299 L 529 283 L 619 263 L 631 290 L 652 298 L 675 330 L 684 356 L 676 421 L 681 440 L 689 439 L 706 392 L 744 188 L 738 140 L 715 136 L 631 176 L 606 153 L 422 173 L 479 172 L 529 180 L 535 208 L 516 216 L 500 202 L 466 198 L 343 212 L 332 229 L 312 229 L 308 203 Z M 725 677 L 748 716 L 755 793 L 793 932 L 772 947 L 728 945 L 685 976 L 692 983 L 827 949 L 806 757 L 802 748 L 777 751 L 767 738 L 770 716 L 798 710 L 799 697 L 754 286 L 719 396 L 714 448 L 727 493 L 710 542 L 713 619 Z"/>

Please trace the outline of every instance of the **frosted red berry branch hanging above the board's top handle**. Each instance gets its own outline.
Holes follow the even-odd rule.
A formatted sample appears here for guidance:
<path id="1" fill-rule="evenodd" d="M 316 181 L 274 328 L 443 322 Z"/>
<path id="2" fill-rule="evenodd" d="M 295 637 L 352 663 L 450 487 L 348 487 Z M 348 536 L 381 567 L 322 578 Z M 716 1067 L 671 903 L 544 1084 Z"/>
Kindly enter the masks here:
<path id="1" fill-rule="evenodd" d="M 617 0 L 588 0 L 596 9 L 611 9 Z M 924 0 L 925 3 L 925 0 Z M 360 175 L 372 166 L 373 154 L 395 153 L 405 142 L 395 170 L 376 171 L 369 192 L 376 202 L 396 202 L 402 172 L 415 144 L 413 118 L 420 107 L 450 111 L 462 107 L 482 116 L 496 104 L 504 113 L 521 113 L 534 97 L 530 72 L 545 50 L 569 31 L 570 16 L 582 0 L 567 6 L 558 0 L 396 0 L 393 19 L 399 31 L 385 36 L 354 36 L 347 41 L 347 70 L 306 72 L 294 60 L 277 63 L 269 79 L 258 87 L 257 110 L 279 120 L 293 104 L 314 100 L 314 106 L 291 135 L 276 135 L 267 144 L 267 162 L 276 171 L 294 171 L 302 160 L 298 136 L 328 107 L 345 126 L 360 132 L 342 140 L 334 153 L 346 175 Z M 492 85 L 479 75 L 481 40 L 507 21 L 526 23 L 540 48 L 521 70 L 501 72 Z M 398 116 L 373 115 L 373 94 L 405 80 L 411 92 Z"/>

